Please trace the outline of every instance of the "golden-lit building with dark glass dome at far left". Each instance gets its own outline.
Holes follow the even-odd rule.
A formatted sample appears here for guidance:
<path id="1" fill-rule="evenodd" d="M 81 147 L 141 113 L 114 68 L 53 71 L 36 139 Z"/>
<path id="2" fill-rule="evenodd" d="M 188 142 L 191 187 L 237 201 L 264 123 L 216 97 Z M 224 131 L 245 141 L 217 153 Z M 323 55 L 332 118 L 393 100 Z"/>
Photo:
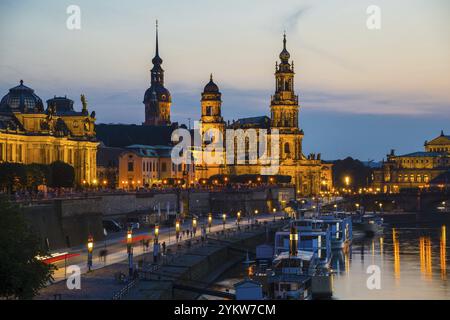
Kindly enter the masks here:
<path id="1" fill-rule="evenodd" d="M 76 184 L 96 180 L 95 112 L 77 112 L 66 97 L 42 100 L 23 81 L 0 102 L 0 162 L 50 164 L 63 161 L 75 169 Z"/>

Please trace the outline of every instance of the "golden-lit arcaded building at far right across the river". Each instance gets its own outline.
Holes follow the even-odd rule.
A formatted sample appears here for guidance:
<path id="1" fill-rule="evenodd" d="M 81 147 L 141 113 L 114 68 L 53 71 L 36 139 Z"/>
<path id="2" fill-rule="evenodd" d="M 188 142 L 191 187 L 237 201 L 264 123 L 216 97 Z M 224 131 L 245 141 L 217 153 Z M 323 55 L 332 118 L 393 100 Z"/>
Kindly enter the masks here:
<path id="1" fill-rule="evenodd" d="M 450 170 L 450 136 L 440 136 L 424 144 L 425 151 L 387 155 L 382 167 L 374 171 L 373 187 L 381 192 L 427 188 Z"/>

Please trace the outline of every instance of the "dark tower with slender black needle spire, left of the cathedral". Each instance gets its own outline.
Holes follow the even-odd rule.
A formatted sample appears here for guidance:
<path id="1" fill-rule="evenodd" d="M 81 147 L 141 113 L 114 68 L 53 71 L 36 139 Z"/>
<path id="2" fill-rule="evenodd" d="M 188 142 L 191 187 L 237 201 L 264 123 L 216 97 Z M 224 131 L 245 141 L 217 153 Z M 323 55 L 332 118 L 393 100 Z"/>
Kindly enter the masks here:
<path id="1" fill-rule="evenodd" d="M 162 59 L 159 56 L 158 21 L 156 21 L 156 49 L 152 59 L 153 68 L 150 71 L 151 85 L 145 91 L 145 125 L 170 125 L 170 106 L 172 97 L 169 90 L 164 87 L 164 70 L 161 67 Z"/>

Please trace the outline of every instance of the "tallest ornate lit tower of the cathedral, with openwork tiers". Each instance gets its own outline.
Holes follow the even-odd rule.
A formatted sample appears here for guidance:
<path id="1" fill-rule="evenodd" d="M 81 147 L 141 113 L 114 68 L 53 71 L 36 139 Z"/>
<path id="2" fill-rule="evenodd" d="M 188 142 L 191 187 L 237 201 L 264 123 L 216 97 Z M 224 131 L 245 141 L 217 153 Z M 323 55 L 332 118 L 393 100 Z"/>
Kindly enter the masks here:
<path id="1" fill-rule="evenodd" d="M 289 62 L 286 49 L 286 34 L 283 35 L 283 50 L 280 63 L 275 64 L 275 94 L 271 98 L 271 127 L 280 132 L 281 160 L 302 158 L 303 131 L 298 127 L 298 96 L 294 92 L 294 62 Z"/>

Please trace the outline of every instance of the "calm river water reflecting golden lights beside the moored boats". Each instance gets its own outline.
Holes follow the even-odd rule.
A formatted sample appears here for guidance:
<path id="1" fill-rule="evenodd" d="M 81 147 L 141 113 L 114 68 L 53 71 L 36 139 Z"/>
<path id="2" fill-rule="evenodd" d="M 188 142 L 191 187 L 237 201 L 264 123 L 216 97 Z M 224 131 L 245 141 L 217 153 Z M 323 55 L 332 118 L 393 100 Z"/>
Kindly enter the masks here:
<path id="1" fill-rule="evenodd" d="M 333 255 L 333 299 L 450 299 L 449 227 L 397 221 L 373 237 L 354 231 L 351 248 Z M 236 266 L 213 287 L 233 292 L 245 276 Z"/>

